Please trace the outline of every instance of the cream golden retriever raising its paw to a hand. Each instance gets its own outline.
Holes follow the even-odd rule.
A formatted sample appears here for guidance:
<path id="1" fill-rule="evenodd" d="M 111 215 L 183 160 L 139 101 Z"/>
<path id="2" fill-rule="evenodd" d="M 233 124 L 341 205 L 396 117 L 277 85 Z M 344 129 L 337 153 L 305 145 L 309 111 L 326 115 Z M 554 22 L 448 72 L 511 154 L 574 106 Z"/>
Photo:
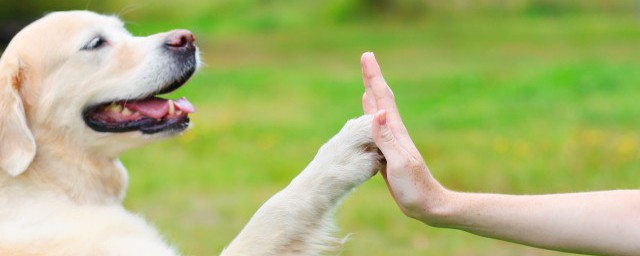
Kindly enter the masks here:
<path id="1" fill-rule="evenodd" d="M 0 255 L 179 255 L 122 206 L 123 151 L 183 133 L 177 90 L 199 65 L 195 37 L 134 37 L 112 16 L 55 12 L 0 58 Z M 339 246 L 332 210 L 375 175 L 371 116 L 350 120 L 255 213 L 221 255 L 317 255 Z"/>

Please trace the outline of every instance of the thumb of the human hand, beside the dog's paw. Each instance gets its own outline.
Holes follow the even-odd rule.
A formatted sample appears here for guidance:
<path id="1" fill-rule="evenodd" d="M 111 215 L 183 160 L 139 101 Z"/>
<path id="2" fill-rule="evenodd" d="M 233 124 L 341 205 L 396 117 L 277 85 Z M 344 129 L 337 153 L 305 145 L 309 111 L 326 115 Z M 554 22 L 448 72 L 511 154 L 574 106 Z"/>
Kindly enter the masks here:
<path id="1" fill-rule="evenodd" d="M 387 125 L 387 111 L 385 109 L 381 109 L 375 114 L 371 128 L 373 140 L 387 161 L 401 157 L 398 140 Z"/>

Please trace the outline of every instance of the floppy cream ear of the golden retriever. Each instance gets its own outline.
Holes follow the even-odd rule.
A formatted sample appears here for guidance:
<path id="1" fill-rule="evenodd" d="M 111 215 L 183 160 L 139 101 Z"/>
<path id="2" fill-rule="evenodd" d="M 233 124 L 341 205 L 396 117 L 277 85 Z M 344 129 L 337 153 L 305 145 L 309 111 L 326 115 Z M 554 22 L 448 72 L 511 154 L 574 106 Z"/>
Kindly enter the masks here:
<path id="1" fill-rule="evenodd" d="M 0 59 L 0 171 L 11 176 L 23 173 L 36 155 L 36 143 L 27 126 L 20 97 L 24 82 L 18 61 Z"/>

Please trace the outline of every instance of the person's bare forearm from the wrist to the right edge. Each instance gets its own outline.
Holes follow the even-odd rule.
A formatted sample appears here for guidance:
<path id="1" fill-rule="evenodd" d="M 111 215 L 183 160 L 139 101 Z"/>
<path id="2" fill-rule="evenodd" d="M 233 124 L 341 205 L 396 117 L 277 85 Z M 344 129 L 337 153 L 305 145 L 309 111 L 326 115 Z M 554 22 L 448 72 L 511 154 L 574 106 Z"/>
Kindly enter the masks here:
<path id="1" fill-rule="evenodd" d="M 640 191 L 515 196 L 448 192 L 422 220 L 525 245 L 600 255 L 640 253 Z"/>

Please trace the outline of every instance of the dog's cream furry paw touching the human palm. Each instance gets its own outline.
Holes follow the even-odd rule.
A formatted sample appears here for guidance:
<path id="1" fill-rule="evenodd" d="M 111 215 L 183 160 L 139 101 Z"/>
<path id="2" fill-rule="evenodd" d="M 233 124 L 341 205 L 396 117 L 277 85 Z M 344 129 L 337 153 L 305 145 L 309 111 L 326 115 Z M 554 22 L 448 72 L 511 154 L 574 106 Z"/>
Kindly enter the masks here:
<path id="1" fill-rule="evenodd" d="M 375 175 L 384 156 L 373 141 L 372 115 L 349 120 L 340 132 L 320 149 L 318 158 L 325 175 L 345 186 L 357 187 Z"/>

